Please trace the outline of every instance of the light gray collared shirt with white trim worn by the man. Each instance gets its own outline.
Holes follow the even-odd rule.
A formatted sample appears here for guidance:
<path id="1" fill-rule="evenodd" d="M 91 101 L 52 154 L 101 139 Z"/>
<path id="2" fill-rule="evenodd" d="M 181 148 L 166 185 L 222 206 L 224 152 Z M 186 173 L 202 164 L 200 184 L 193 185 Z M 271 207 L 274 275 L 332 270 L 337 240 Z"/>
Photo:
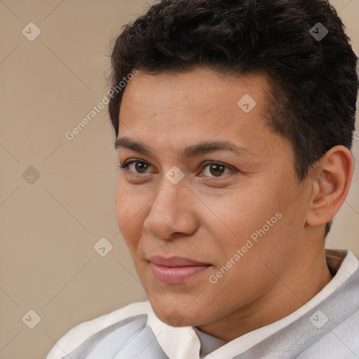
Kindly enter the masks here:
<path id="1" fill-rule="evenodd" d="M 309 302 L 224 344 L 194 327 L 171 327 L 149 302 L 78 325 L 46 359 L 359 358 L 359 266 L 348 250 L 326 250 L 334 276 Z"/>

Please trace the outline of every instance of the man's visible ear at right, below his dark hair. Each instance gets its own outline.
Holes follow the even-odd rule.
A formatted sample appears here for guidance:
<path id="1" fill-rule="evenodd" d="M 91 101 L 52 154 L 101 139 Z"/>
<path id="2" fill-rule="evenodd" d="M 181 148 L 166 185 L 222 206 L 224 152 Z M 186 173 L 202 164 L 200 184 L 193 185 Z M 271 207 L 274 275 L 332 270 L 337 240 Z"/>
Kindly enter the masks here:
<path id="1" fill-rule="evenodd" d="M 306 224 L 319 226 L 333 219 L 344 203 L 353 178 L 353 156 L 344 146 L 332 147 L 312 171 L 312 193 Z"/>

